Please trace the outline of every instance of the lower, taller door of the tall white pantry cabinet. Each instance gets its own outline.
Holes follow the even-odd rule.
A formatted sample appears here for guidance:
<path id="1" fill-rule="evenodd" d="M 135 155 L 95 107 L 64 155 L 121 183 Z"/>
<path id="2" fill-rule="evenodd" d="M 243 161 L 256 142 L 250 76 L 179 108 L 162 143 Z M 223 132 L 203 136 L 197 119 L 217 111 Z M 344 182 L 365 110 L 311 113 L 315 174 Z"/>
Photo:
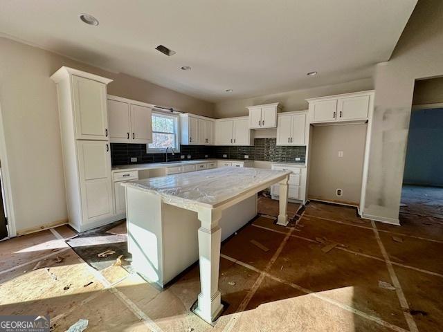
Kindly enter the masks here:
<path id="1" fill-rule="evenodd" d="M 114 214 L 109 143 L 90 140 L 77 145 L 82 222 L 106 219 Z"/>

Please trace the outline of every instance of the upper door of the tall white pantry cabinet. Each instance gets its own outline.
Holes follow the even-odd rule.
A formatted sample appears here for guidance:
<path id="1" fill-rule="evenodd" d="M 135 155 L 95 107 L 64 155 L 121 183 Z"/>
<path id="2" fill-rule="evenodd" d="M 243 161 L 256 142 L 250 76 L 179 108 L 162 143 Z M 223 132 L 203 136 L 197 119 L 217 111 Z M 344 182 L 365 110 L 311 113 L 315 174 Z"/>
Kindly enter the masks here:
<path id="1" fill-rule="evenodd" d="M 107 140 L 106 85 L 73 75 L 75 138 Z"/>

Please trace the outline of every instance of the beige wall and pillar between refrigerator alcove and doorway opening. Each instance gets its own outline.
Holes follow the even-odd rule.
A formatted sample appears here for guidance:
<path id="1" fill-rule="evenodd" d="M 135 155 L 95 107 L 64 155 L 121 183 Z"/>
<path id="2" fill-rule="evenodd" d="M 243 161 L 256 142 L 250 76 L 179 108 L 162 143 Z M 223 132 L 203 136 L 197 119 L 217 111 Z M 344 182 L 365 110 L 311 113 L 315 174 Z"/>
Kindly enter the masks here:
<path id="1" fill-rule="evenodd" d="M 364 215 L 398 221 L 414 82 L 443 75 L 443 1 L 420 0 L 389 62 L 377 65 Z"/>

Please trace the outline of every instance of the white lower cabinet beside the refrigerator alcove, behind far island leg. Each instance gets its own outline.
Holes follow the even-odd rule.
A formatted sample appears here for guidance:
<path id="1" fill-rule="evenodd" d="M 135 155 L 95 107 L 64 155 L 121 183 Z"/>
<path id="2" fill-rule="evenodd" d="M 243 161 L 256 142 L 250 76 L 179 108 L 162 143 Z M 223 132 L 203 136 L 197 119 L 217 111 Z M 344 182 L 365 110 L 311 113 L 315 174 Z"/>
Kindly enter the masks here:
<path id="1" fill-rule="evenodd" d="M 306 168 L 293 165 L 272 165 L 271 169 L 291 171 L 288 181 L 288 199 L 293 201 L 306 201 Z M 271 186 L 272 199 L 280 196 L 280 185 Z"/>

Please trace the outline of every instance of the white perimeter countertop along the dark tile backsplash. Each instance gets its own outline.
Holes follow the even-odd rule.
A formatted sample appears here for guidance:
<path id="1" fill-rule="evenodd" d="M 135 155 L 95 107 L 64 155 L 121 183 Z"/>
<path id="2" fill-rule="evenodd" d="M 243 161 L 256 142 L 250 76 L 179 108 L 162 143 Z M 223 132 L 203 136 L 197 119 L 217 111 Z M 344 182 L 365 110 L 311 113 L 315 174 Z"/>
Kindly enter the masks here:
<path id="1" fill-rule="evenodd" d="M 183 160 L 179 163 L 146 163 L 146 164 L 132 164 L 132 165 L 117 165 L 112 167 L 112 172 L 119 171 L 138 171 L 143 169 L 159 169 L 164 167 L 174 167 L 181 165 L 192 165 L 192 164 L 201 164 L 201 163 L 210 163 L 217 161 L 229 161 L 229 162 L 253 162 L 254 160 L 249 159 L 216 159 L 216 158 L 208 158 L 208 159 L 194 159 L 194 160 Z M 287 166 L 296 166 L 296 167 L 306 167 L 305 163 L 274 163 L 274 162 L 266 162 L 271 163 L 271 165 L 287 165 Z"/>

